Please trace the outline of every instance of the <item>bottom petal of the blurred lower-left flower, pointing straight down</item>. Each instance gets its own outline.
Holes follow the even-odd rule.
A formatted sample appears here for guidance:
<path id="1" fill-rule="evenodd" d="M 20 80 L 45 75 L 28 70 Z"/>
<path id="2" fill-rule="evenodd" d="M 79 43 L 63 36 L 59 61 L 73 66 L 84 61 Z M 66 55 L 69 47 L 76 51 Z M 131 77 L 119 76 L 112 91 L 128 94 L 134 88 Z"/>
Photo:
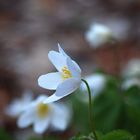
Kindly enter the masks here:
<path id="1" fill-rule="evenodd" d="M 42 134 L 49 127 L 49 123 L 49 117 L 46 117 L 45 119 L 36 118 L 34 123 L 34 131 L 38 134 Z"/>

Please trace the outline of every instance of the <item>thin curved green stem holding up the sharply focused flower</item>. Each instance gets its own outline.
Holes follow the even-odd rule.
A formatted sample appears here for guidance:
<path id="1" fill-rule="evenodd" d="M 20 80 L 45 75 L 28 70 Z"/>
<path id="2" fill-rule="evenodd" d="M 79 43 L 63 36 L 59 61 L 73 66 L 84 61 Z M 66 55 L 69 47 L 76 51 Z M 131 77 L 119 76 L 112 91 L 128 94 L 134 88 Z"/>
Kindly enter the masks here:
<path id="1" fill-rule="evenodd" d="M 81 79 L 81 80 L 85 83 L 85 85 L 86 85 L 86 87 L 87 87 L 88 96 L 89 96 L 89 122 L 90 122 L 90 125 L 91 125 L 91 129 L 92 129 L 92 131 L 93 131 L 93 134 L 94 134 L 94 136 L 95 136 L 95 139 L 98 140 L 97 135 L 96 135 L 96 132 L 95 132 L 95 128 L 94 128 L 94 123 L 93 123 L 93 121 L 92 121 L 91 90 L 90 90 L 90 87 L 89 87 L 88 82 L 87 82 L 86 80 L 84 80 L 84 79 Z"/>

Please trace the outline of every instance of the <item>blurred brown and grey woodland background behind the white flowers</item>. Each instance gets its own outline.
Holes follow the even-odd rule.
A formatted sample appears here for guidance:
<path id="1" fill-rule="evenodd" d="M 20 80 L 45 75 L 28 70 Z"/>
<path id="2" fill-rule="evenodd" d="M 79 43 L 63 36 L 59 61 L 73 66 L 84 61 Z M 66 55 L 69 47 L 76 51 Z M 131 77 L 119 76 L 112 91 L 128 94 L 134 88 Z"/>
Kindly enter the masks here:
<path id="1" fill-rule="evenodd" d="M 55 71 L 48 52 L 57 50 L 57 43 L 80 65 L 83 76 L 101 71 L 123 79 L 131 72 L 133 75 L 133 69 L 140 76 L 139 15 L 139 0 L 0 0 L 1 133 L 15 140 L 19 139 L 16 132 L 27 134 L 17 128 L 16 120 L 4 114 L 4 109 L 26 89 L 32 90 L 34 96 L 50 93 L 38 86 L 37 79 Z M 115 41 L 94 45 L 88 40 L 91 26 L 98 23 L 111 31 Z M 138 75 L 130 83 L 139 87 Z M 137 122 L 140 124 L 140 120 Z M 67 139 L 76 133 L 72 130 L 73 125 L 53 135 Z"/>

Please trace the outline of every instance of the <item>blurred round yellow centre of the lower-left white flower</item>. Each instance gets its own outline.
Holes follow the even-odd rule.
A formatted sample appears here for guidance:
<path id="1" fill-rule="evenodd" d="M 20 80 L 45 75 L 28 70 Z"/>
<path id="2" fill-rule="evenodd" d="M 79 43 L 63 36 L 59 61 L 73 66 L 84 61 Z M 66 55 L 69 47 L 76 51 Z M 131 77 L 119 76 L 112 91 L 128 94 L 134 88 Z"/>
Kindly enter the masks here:
<path id="1" fill-rule="evenodd" d="M 37 114 L 40 118 L 46 117 L 49 112 L 49 106 L 47 104 L 39 103 L 37 105 Z"/>

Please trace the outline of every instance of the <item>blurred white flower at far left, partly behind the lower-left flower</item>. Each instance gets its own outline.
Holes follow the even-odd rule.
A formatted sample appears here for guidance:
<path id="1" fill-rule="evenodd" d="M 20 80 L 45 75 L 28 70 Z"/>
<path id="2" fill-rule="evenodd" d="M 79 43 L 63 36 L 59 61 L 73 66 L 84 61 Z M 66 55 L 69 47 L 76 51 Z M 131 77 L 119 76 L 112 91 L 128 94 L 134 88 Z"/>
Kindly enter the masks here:
<path id="1" fill-rule="evenodd" d="M 32 100 L 33 94 L 30 91 L 26 91 L 21 98 L 14 99 L 13 102 L 6 107 L 5 113 L 11 117 L 18 117 Z"/>

